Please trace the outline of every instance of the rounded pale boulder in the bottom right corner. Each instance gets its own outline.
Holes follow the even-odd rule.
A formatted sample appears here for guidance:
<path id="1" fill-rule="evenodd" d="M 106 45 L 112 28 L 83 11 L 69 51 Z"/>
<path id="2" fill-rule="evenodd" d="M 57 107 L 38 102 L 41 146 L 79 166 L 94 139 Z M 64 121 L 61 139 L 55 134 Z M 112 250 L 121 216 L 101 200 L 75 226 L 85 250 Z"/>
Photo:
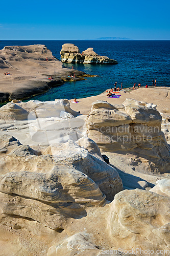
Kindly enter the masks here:
<path id="1" fill-rule="evenodd" d="M 170 199 L 135 189 L 115 196 L 108 216 L 113 244 L 127 250 L 170 250 Z M 136 250 L 135 250 L 136 251 Z M 163 253 L 168 255 L 168 253 Z"/>

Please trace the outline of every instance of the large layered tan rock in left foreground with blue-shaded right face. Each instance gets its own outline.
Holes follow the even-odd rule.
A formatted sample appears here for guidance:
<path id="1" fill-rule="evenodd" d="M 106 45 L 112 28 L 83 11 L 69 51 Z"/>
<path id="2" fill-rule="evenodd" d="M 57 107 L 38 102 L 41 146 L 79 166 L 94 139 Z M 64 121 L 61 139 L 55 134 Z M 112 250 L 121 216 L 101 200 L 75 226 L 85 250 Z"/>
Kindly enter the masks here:
<path id="1" fill-rule="evenodd" d="M 20 145 L 8 135 L 1 141 L 2 223 L 9 223 L 11 216 L 54 230 L 64 228 L 66 219 L 86 215 L 84 206 L 103 205 L 105 197 L 113 200 L 122 190 L 113 167 L 72 141 L 45 152 Z"/>

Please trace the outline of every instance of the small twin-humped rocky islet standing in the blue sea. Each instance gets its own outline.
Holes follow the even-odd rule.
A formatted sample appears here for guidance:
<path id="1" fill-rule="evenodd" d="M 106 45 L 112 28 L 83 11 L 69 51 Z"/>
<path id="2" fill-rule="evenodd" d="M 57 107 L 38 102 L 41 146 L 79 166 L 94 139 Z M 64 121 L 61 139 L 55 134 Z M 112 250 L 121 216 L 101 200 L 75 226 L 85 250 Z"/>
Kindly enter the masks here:
<path id="1" fill-rule="evenodd" d="M 101 56 L 88 48 L 80 54 L 80 50 L 74 44 L 64 44 L 61 49 L 61 61 L 65 63 L 84 63 L 84 64 L 117 64 L 117 60 Z"/>

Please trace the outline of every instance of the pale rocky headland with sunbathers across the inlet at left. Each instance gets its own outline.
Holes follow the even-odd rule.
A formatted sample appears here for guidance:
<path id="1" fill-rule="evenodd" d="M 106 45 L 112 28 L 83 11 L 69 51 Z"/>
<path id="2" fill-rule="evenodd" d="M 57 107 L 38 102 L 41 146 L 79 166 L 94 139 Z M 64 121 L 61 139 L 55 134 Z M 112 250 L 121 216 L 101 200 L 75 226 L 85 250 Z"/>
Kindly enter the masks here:
<path id="1" fill-rule="evenodd" d="M 62 62 L 44 45 L 4 47 L 0 50 L 0 70 L 1 103 L 30 98 L 65 81 L 84 80 L 85 76 L 89 76 L 78 70 L 63 68 Z M 50 76 L 54 79 L 47 80 Z"/>

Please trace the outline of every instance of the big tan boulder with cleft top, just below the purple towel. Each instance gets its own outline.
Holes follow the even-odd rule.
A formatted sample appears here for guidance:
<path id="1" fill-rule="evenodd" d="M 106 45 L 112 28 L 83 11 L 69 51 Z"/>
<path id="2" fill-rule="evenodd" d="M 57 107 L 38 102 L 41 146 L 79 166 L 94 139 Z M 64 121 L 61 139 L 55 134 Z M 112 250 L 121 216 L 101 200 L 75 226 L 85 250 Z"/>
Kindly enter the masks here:
<path id="1" fill-rule="evenodd" d="M 131 153 L 148 161 L 148 170 L 169 173 L 170 150 L 161 120 L 153 104 L 127 99 L 116 106 L 96 101 L 87 118 L 87 133 L 103 151 Z"/>

